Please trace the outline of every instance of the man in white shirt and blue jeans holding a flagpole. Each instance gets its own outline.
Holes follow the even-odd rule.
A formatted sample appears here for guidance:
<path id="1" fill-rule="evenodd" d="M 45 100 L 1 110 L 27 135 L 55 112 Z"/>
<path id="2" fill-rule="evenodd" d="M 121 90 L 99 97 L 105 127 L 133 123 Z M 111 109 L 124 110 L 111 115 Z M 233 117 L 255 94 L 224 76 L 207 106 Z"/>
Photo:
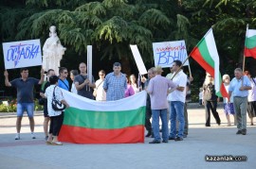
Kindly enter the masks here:
<path id="1" fill-rule="evenodd" d="M 170 121 L 171 121 L 171 132 L 169 135 L 169 140 L 182 141 L 184 132 L 184 104 L 186 100 L 186 86 L 187 86 L 187 76 L 180 69 L 182 62 L 180 60 L 174 60 L 173 63 L 173 78 L 174 83 L 177 87 L 174 91 L 168 94 L 168 101 L 170 103 Z M 178 120 L 178 134 L 176 137 L 176 120 Z"/>

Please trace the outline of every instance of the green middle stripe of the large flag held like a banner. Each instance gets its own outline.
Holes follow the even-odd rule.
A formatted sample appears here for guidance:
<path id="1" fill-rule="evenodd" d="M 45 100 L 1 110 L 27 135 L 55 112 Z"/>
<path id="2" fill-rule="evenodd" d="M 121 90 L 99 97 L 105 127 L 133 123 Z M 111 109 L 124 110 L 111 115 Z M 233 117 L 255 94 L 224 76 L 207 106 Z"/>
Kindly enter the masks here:
<path id="1" fill-rule="evenodd" d="M 137 110 L 94 111 L 69 108 L 64 111 L 64 125 L 114 129 L 144 125 L 146 107 Z"/>

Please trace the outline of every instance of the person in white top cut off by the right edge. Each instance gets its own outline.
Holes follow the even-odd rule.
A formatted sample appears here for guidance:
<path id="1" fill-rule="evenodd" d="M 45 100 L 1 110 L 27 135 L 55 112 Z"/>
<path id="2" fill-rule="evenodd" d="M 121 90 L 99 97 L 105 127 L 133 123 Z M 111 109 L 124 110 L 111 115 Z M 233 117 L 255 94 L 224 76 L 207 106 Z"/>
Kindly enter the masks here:
<path id="1" fill-rule="evenodd" d="M 251 90 L 248 90 L 247 112 L 250 119 L 250 125 L 253 126 L 253 117 L 256 117 L 256 78 L 251 77 L 248 71 L 245 71 L 245 76 L 249 78 Z"/>

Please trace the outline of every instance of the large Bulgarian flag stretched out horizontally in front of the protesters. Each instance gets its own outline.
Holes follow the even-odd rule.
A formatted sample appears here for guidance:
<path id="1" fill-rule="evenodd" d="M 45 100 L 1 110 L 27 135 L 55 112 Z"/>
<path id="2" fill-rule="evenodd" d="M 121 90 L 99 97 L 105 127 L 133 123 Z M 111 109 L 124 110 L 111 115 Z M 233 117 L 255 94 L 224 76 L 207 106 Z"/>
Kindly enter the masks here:
<path id="1" fill-rule="evenodd" d="M 74 144 L 144 143 L 146 92 L 118 100 L 99 102 L 62 90 L 69 108 L 59 134 Z"/>

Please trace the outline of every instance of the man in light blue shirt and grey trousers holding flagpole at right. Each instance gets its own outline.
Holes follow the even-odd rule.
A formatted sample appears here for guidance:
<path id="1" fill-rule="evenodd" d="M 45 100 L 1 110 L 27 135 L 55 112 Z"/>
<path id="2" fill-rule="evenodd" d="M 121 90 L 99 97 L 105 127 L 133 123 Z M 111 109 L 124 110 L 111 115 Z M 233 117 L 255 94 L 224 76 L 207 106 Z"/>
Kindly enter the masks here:
<path id="1" fill-rule="evenodd" d="M 250 81 L 247 76 L 243 76 L 240 68 L 234 70 L 235 77 L 231 80 L 229 86 L 229 98 L 233 94 L 233 105 L 236 113 L 237 128 L 236 134 L 247 134 L 247 95 L 251 90 Z"/>

